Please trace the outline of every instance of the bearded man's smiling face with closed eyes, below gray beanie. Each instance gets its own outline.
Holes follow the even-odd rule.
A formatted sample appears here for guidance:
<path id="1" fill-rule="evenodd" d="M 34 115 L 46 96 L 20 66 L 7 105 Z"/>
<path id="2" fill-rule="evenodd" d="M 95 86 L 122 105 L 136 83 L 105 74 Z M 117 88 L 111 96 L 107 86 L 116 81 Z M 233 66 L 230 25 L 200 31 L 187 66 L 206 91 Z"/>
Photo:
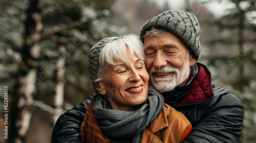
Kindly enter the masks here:
<path id="1" fill-rule="evenodd" d="M 196 62 L 185 43 L 168 31 L 162 36 L 145 37 L 144 48 L 150 80 L 160 92 L 171 91 L 185 81 L 189 67 Z"/>

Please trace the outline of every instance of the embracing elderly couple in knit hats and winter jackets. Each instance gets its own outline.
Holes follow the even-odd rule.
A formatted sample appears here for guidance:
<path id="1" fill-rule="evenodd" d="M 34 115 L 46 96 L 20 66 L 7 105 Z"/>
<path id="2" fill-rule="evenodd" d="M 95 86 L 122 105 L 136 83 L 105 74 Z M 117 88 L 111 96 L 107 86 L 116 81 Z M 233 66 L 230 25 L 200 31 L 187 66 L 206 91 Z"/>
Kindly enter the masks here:
<path id="1" fill-rule="evenodd" d="M 96 94 L 58 118 L 52 142 L 239 142 L 243 105 L 196 63 L 199 35 L 195 15 L 166 11 L 140 38 L 99 41 L 89 52 Z"/>

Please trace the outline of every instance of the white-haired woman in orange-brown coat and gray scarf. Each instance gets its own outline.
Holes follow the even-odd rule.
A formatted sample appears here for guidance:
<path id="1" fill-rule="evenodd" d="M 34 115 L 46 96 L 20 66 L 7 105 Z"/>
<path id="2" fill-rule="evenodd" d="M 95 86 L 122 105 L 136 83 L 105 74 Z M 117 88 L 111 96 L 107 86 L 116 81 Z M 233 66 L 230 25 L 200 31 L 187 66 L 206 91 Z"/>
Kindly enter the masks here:
<path id="1" fill-rule="evenodd" d="M 105 38 L 89 54 L 97 94 L 80 129 L 83 142 L 180 142 L 191 131 L 187 118 L 148 83 L 138 36 Z"/>

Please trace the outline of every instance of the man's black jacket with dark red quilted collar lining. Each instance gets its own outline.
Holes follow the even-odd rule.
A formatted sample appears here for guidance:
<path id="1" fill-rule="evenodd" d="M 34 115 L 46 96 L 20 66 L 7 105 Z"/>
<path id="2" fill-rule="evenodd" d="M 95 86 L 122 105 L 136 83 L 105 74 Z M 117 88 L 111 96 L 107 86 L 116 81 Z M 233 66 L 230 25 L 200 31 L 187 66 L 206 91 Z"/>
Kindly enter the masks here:
<path id="1" fill-rule="evenodd" d="M 193 126 L 182 142 L 239 142 L 243 105 L 231 91 L 211 85 L 204 65 L 195 64 L 188 81 L 163 96 L 165 103 L 182 112 Z M 79 127 L 92 97 L 58 118 L 52 142 L 82 142 Z"/>

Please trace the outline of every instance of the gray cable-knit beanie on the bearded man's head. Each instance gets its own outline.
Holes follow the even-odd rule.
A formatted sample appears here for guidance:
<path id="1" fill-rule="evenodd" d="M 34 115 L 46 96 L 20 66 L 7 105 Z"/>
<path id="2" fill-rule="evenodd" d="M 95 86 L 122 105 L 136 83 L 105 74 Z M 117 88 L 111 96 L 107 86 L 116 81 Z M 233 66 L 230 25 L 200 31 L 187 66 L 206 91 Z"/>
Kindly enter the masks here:
<path id="1" fill-rule="evenodd" d="M 201 53 L 200 26 L 194 14 L 186 11 L 170 10 L 151 18 L 140 30 L 140 38 L 143 43 L 143 36 L 152 28 L 166 29 L 174 33 L 194 52 L 197 60 L 199 59 Z"/>

